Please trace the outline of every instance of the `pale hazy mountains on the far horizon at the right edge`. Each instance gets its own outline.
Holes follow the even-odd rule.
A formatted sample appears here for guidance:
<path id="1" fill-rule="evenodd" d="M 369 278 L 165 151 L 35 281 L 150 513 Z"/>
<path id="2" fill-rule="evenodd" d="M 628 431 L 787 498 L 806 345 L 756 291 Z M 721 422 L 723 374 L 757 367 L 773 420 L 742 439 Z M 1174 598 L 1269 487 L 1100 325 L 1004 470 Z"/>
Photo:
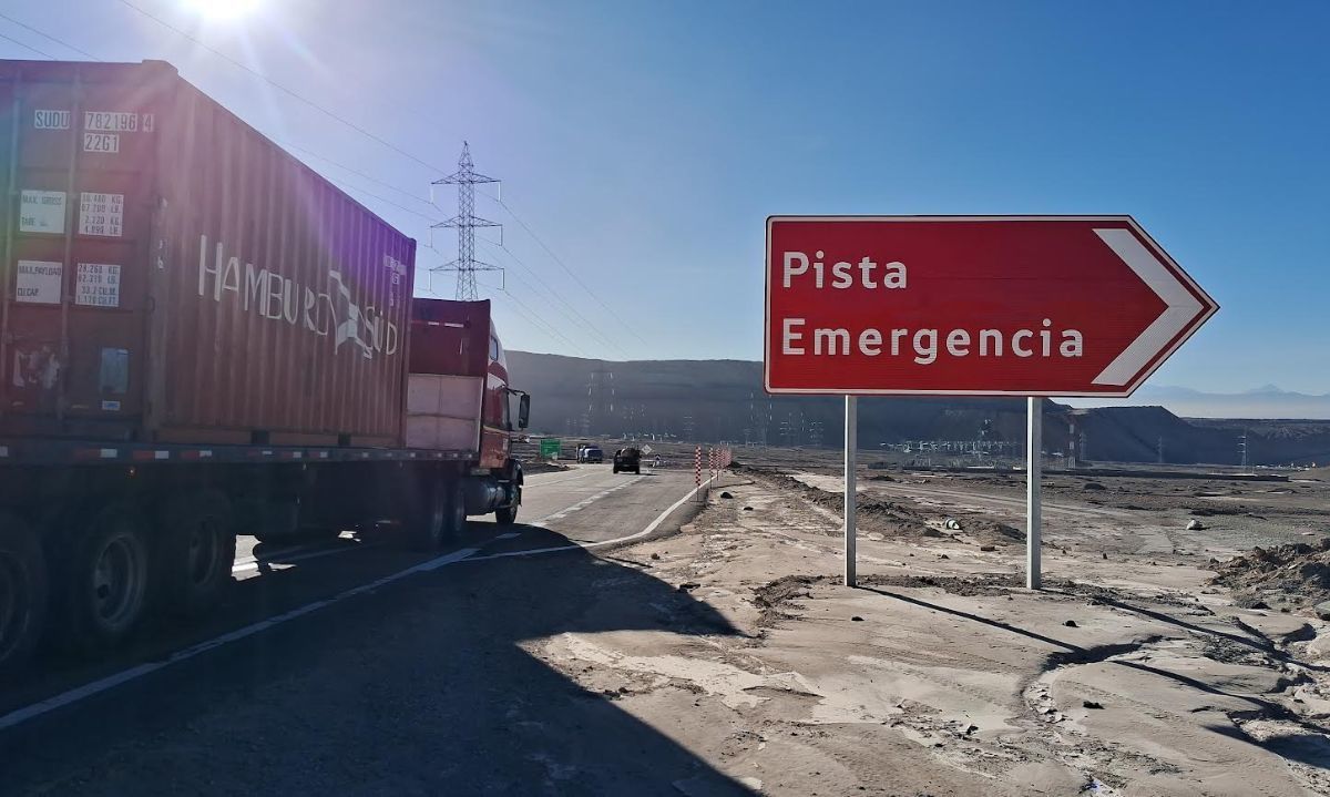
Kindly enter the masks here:
<path id="1" fill-rule="evenodd" d="M 1204 393 L 1190 387 L 1146 385 L 1130 399 L 1071 399 L 1076 407 L 1160 404 L 1184 418 L 1289 418 L 1330 420 L 1330 393 L 1290 393 L 1262 385 L 1242 393 Z"/>

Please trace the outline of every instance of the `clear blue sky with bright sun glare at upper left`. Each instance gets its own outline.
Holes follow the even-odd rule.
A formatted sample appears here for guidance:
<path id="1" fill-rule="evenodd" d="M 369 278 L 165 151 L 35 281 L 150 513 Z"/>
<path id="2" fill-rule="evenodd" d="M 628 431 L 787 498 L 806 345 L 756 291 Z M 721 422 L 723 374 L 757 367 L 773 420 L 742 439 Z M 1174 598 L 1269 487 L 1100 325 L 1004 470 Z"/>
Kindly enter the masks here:
<path id="1" fill-rule="evenodd" d="M 132 1 L 438 170 L 121 0 L 3 13 L 172 61 L 422 243 L 455 202 L 428 182 L 469 140 L 544 242 L 480 197 L 505 222 L 505 249 L 477 249 L 508 267 L 516 298 L 483 293 L 513 349 L 759 359 L 771 213 L 1130 213 L 1222 305 L 1152 383 L 1330 393 L 1326 3 L 258 0 L 223 21 Z M 434 243 L 422 269 L 454 257 Z"/>

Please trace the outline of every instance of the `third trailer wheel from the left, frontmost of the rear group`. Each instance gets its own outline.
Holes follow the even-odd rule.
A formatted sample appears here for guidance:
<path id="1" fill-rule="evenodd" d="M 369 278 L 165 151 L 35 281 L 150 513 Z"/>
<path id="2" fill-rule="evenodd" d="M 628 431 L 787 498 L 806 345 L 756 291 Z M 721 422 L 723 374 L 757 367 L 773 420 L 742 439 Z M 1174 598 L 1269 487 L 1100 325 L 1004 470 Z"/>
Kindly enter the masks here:
<path id="1" fill-rule="evenodd" d="M 211 609 L 231 584 L 235 532 L 230 502 L 206 491 L 173 499 L 162 510 L 162 605 L 181 616 Z"/>

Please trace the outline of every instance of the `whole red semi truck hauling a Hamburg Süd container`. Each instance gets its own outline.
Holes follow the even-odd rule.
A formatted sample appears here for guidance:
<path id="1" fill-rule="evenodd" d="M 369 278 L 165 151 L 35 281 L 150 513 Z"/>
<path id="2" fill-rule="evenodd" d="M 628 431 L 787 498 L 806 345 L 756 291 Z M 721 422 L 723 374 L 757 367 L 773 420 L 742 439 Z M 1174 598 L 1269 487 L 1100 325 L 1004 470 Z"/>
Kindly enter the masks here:
<path id="1" fill-rule="evenodd" d="M 169 64 L 0 61 L 0 684 L 209 611 L 238 534 L 516 520 L 489 303 Z"/>

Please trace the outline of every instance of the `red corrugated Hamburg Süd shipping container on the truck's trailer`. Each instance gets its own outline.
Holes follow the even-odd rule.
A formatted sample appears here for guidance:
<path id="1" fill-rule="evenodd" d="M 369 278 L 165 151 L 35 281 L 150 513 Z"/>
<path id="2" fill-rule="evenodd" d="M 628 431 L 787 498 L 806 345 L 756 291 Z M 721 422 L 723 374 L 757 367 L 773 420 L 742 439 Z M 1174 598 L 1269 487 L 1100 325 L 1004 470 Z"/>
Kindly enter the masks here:
<path id="1" fill-rule="evenodd" d="M 0 61 L 0 430 L 399 446 L 415 241 L 162 63 Z"/>

